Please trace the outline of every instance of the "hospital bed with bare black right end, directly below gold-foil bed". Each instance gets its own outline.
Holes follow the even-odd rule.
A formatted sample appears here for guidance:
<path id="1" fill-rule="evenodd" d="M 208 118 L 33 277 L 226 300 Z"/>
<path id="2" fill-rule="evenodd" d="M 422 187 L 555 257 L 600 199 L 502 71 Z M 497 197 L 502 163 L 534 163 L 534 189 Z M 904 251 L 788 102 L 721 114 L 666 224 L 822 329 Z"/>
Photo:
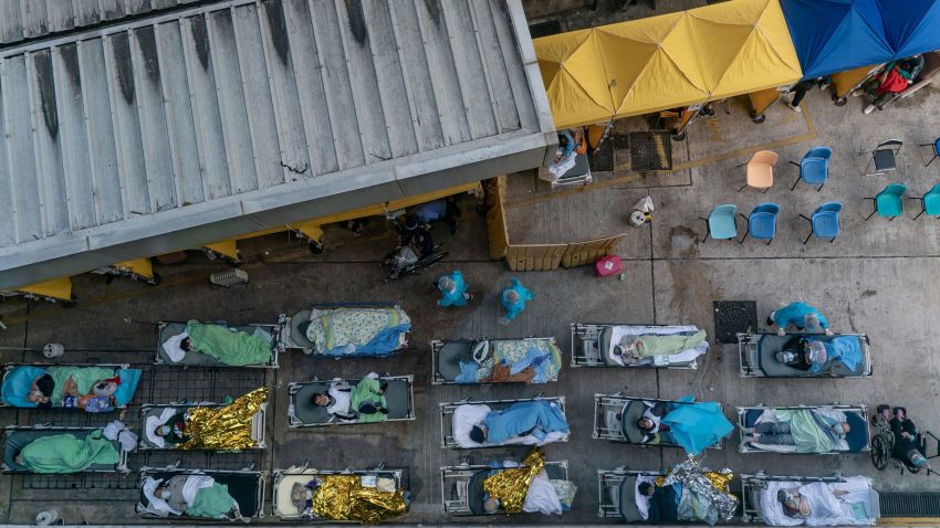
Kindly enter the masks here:
<path id="1" fill-rule="evenodd" d="M 268 474 L 244 469 L 184 469 L 176 466 L 168 467 L 142 467 L 137 478 L 138 503 L 136 511 L 147 519 L 177 520 L 182 522 L 218 522 L 219 519 L 206 517 L 194 517 L 191 515 L 169 515 L 163 517 L 149 509 L 149 500 L 144 495 L 144 481 L 147 477 L 168 479 L 177 475 L 208 475 L 217 483 L 229 487 L 229 495 L 238 503 L 239 511 L 244 519 L 260 519 L 264 517 L 264 497 L 267 496 Z M 238 520 L 234 517 L 228 520 Z"/>

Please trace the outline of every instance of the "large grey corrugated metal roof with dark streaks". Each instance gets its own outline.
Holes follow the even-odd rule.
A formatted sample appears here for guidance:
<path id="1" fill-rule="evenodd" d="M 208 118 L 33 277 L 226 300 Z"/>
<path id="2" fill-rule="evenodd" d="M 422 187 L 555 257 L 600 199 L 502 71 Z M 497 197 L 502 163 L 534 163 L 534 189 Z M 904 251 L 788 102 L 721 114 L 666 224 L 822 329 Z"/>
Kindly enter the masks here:
<path id="1" fill-rule="evenodd" d="M 534 167 L 553 141 L 518 0 L 200 4 L 0 51 L 0 287 Z"/>

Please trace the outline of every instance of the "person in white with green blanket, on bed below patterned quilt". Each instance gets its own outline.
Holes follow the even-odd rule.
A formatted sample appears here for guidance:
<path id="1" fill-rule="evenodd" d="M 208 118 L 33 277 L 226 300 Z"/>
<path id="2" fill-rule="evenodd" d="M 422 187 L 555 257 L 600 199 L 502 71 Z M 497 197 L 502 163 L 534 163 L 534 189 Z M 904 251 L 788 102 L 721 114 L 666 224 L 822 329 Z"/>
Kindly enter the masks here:
<path id="1" fill-rule="evenodd" d="M 388 414 L 385 406 L 386 390 L 388 382 L 370 372 L 355 387 L 340 379 L 334 380 L 325 393 L 314 394 L 312 402 L 316 406 L 325 406 L 326 412 L 341 421 L 377 422 Z"/>

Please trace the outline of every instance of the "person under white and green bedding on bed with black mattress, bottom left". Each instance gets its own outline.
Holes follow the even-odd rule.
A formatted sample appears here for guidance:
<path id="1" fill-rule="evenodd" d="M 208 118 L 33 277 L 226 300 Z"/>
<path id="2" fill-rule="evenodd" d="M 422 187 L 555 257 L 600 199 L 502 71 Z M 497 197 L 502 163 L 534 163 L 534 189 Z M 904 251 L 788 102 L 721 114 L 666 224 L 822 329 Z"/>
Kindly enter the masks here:
<path id="1" fill-rule="evenodd" d="M 208 475 L 175 475 L 166 481 L 147 477 L 144 496 L 149 501 L 148 511 L 160 516 L 186 514 L 221 519 L 234 510 L 234 517 L 241 517 L 228 486 Z"/>

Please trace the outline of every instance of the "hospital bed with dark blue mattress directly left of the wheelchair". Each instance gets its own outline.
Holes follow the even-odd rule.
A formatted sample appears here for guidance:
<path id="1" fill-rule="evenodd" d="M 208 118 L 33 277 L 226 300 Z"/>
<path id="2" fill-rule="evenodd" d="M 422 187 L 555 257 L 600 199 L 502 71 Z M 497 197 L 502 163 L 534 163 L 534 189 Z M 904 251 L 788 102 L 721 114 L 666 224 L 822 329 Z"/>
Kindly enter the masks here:
<path id="1" fill-rule="evenodd" d="M 846 435 L 845 440 L 837 445 L 835 448 L 826 452 L 826 453 L 801 453 L 801 454 L 816 454 L 816 455 L 838 455 L 843 453 L 858 453 L 861 451 L 870 451 L 871 443 L 869 441 L 869 432 L 868 432 L 868 420 L 867 420 L 867 406 L 861 405 L 840 405 L 838 403 L 833 403 L 831 405 L 796 405 L 796 406 L 765 406 L 763 404 L 758 404 L 753 406 L 739 406 L 738 408 L 738 424 L 739 427 L 739 437 L 740 442 L 738 445 L 738 451 L 741 453 L 781 453 L 781 454 L 796 454 L 796 447 L 792 445 L 763 445 L 763 444 L 751 444 L 744 443 L 744 433 L 741 431 L 741 427 L 753 427 L 758 423 L 758 419 L 764 413 L 764 411 L 782 411 L 782 410 L 811 410 L 811 411 L 823 411 L 826 413 L 839 412 L 845 414 L 845 422 L 849 424 L 850 431 Z"/>

